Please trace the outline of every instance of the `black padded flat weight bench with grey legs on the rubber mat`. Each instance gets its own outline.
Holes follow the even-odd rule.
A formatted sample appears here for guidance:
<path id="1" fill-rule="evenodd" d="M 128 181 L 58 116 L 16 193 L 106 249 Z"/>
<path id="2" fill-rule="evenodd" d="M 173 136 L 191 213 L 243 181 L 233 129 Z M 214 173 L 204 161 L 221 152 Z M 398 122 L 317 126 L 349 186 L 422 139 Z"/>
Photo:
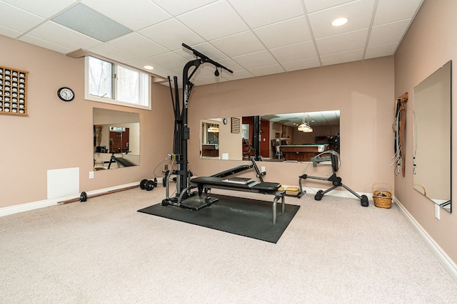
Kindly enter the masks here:
<path id="1" fill-rule="evenodd" d="M 224 182 L 224 177 L 194 177 L 191 179 L 191 184 L 198 187 L 199 196 L 205 192 L 208 194 L 208 190 L 211 188 L 226 189 L 233 191 L 242 192 L 253 192 L 261 194 L 274 195 L 273 199 L 273 224 L 276 224 L 276 204 L 281 199 L 281 214 L 284 214 L 284 190 L 279 190 L 281 184 L 276 182 L 256 182 L 251 181 L 246 184 L 235 183 L 235 182 Z M 207 196 L 207 199 L 209 197 Z"/>

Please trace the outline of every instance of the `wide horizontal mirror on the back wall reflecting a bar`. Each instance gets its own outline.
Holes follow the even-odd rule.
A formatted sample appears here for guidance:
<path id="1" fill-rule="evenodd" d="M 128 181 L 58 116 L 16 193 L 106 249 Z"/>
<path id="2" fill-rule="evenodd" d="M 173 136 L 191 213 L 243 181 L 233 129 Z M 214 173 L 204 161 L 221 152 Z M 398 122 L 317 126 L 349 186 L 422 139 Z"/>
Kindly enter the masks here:
<path id="1" fill-rule="evenodd" d="M 326 150 L 340 152 L 339 110 L 200 121 L 202 159 L 309 162 Z"/>

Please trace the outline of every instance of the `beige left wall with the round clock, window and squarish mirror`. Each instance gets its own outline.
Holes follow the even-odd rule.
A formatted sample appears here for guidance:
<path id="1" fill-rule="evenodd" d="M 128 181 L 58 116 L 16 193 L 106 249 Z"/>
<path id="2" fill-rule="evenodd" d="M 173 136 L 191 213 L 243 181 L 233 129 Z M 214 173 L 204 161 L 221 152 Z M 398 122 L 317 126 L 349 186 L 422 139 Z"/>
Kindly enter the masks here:
<path id="1" fill-rule="evenodd" d="M 169 88 L 154 84 L 152 111 L 84 100 L 84 59 L 73 59 L 0 36 L 0 65 L 28 70 L 27 117 L 0 115 L 0 208 L 45 200 L 49 169 L 79 167 L 82 191 L 151 178 L 172 151 L 173 108 Z M 56 92 L 69 86 L 76 98 L 64 103 Z M 128 110 L 140 115 L 141 165 L 93 171 L 92 109 Z"/>

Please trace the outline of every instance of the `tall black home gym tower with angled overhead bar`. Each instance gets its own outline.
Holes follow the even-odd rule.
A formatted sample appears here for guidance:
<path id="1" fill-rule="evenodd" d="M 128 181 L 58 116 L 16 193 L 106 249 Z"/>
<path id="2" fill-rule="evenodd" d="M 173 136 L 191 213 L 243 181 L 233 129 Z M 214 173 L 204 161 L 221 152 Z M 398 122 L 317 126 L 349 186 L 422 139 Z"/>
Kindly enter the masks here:
<path id="1" fill-rule="evenodd" d="M 182 43 L 184 48 L 187 48 L 191 51 L 196 59 L 189 61 L 184 65 L 183 70 L 183 91 L 182 91 L 182 105 L 179 101 L 179 88 L 178 88 L 178 78 L 174 76 L 174 93 L 171 86 L 171 79 L 169 77 L 171 101 L 173 103 L 174 110 L 174 142 L 173 142 L 173 154 L 171 154 L 171 159 L 176 163 L 177 169 L 169 171 L 166 173 L 166 199 L 162 200 L 162 205 L 174 205 L 181 206 L 183 208 L 198 210 L 204 206 L 209 206 L 212 204 L 211 201 L 199 201 L 188 199 L 191 194 L 191 184 L 190 178 L 192 173 L 188 170 L 188 157 L 187 157 L 187 141 L 190 138 L 190 131 L 187 123 L 187 111 L 189 108 L 189 97 L 191 95 L 191 90 L 194 88 L 194 83 L 191 83 L 192 76 L 196 73 L 196 70 L 200 65 L 204 63 L 211 63 L 216 67 L 214 75 L 219 76 L 219 70 L 227 70 L 229 73 L 233 73 L 232 70 L 226 68 L 224 65 L 217 63 L 216 61 L 211 60 L 208 56 L 200 53 L 199 51 L 194 50 L 190 46 L 187 46 L 185 43 Z M 191 68 L 194 68 L 191 70 Z M 219 68 L 219 70 L 218 70 Z M 191 72 L 189 74 L 189 72 Z M 171 175 L 176 176 L 176 196 L 169 196 L 169 177 Z"/>

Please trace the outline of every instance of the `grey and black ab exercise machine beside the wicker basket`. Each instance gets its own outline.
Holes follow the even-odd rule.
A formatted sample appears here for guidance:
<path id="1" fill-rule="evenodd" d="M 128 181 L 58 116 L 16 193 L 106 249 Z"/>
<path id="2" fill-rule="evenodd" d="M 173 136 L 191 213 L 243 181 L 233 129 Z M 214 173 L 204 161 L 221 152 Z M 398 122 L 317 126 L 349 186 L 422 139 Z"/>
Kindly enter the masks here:
<path id="1" fill-rule="evenodd" d="M 326 155 L 328 154 L 328 155 Z M 358 199 L 360 199 L 360 203 L 361 203 L 361 206 L 364 206 L 364 207 L 367 207 L 368 206 L 368 196 L 366 195 L 358 195 L 356 192 L 354 192 L 352 189 L 350 189 L 349 187 L 347 187 L 345 184 L 343 184 L 341 182 L 341 177 L 337 177 L 336 176 L 336 172 L 338 171 L 339 167 L 340 167 L 340 155 L 333 151 L 333 150 L 327 150 L 325 152 L 322 152 L 320 154 L 317 154 L 316 157 L 311 157 L 311 162 L 313 163 L 313 167 L 317 167 L 317 164 L 321 163 L 321 162 L 331 162 L 331 168 L 333 170 L 333 174 L 331 175 L 331 177 L 312 177 L 308 174 L 303 174 L 301 175 L 300 177 L 298 177 L 298 184 L 300 186 L 300 189 L 299 189 L 299 193 L 298 193 L 298 197 L 300 198 L 301 196 L 303 196 L 303 194 L 305 194 L 305 192 L 303 191 L 303 187 L 301 185 L 301 181 L 302 179 L 320 179 L 320 180 L 323 180 L 323 181 L 328 181 L 328 182 L 331 182 L 333 184 L 332 187 L 326 189 L 325 191 L 323 190 L 319 190 L 316 195 L 314 195 L 314 199 L 316 199 L 316 201 L 320 201 L 322 199 L 322 196 L 324 194 L 326 194 L 327 192 L 331 192 L 333 189 L 336 189 L 338 187 L 343 187 L 344 189 L 348 190 L 348 192 L 351 192 L 352 194 L 354 194 L 355 196 L 358 197 Z"/>

